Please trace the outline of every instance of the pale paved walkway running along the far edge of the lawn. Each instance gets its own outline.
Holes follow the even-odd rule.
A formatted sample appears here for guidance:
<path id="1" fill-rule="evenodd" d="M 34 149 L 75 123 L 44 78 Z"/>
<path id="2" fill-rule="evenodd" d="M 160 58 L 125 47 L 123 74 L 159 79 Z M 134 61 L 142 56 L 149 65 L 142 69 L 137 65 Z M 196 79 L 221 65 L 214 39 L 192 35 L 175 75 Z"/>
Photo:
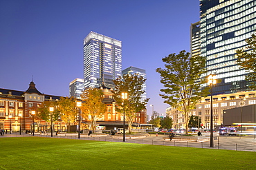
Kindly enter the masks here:
<path id="1" fill-rule="evenodd" d="M 4 136 L 0 136 L 0 138 L 5 137 L 26 137 L 32 136 L 31 134 L 24 134 L 19 132 L 15 132 L 12 134 L 4 134 Z M 40 135 L 35 134 L 35 136 L 40 137 L 49 137 L 51 138 L 51 134 L 47 135 Z M 147 144 L 147 145 L 166 145 L 166 146 L 175 146 L 175 147 L 198 147 L 198 148 L 207 148 L 212 149 L 210 147 L 210 141 L 205 142 L 187 142 L 187 141 L 168 141 L 163 140 L 164 136 L 147 136 L 146 138 L 126 138 L 126 142 L 129 143 L 140 143 L 140 144 Z M 167 136 L 165 136 L 166 138 Z M 53 134 L 53 138 L 71 138 L 77 139 L 77 134 L 68 134 L 68 135 L 58 135 L 56 136 Z M 111 138 L 111 136 L 97 136 L 97 137 L 90 137 L 87 135 L 80 135 L 80 140 L 99 140 L 99 141 L 109 141 L 109 142 L 122 142 L 123 138 Z M 217 140 L 214 140 L 214 148 L 213 149 L 228 149 L 228 150 L 235 150 L 235 151 L 256 151 L 256 136 L 219 136 Z"/>

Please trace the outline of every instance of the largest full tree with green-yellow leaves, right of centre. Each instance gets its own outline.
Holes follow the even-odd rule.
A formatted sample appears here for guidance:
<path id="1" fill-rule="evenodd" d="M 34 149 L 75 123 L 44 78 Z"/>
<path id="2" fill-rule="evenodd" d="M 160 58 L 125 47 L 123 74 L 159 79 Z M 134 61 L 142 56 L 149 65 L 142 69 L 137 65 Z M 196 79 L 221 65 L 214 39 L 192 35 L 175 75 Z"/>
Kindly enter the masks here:
<path id="1" fill-rule="evenodd" d="M 178 109 L 185 118 L 185 134 L 188 134 L 188 121 L 190 120 L 191 110 L 201 96 L 207 96 L 208 88 L 201 88 L 206 83 L 201 75 L 206 73 L 206 59 L 202 56 L 190 56 L 185 50 L 179 54 L 170 54 L 162 59 L 165 69 L 158 68 L 156 72 L 161 75 L 161 83 L 165 89 L 161 89 L 160 94 L 165 99 L 164 103 Z"/>

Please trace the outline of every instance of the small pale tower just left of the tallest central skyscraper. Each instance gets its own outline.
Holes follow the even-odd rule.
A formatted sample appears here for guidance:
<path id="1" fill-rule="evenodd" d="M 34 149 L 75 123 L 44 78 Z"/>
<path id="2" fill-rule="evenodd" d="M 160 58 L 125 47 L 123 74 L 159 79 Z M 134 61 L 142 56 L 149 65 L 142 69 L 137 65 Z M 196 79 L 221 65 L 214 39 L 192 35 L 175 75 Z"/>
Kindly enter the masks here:
<path id="1" fill-rule="evenodd" d="M 69 97 L 81 98 L 84 91 L 84 80 L 82 78 L 75 78 L 69 83 Z"/>

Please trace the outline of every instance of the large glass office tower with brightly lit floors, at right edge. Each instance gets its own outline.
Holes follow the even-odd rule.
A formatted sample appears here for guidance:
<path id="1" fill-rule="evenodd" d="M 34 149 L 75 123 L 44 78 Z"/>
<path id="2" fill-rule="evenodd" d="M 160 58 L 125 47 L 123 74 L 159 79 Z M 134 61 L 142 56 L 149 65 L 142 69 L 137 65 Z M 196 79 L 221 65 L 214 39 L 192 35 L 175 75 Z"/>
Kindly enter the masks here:
<path id="1" fill-rule="evenodd" d="M 235 51 L 256 29 L 255 0 L 200 0 L 201 55 L 207 58 L 208 74 L 221 79 L 214 94 L 248 90 L 245 70 L 237 65 Z M 207 76 L 205 75 L 205 76 Z"/>

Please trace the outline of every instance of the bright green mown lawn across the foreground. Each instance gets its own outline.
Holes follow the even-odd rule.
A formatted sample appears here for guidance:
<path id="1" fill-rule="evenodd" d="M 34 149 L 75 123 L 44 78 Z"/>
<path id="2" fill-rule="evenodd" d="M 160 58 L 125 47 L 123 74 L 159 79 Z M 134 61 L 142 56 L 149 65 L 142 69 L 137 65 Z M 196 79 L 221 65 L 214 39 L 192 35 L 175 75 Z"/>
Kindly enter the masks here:
<path id="1" fill-rule="evenodd" d="M 62 138 L 0 138 L 0 169 L 255 169 L 256 153 Z"/>

